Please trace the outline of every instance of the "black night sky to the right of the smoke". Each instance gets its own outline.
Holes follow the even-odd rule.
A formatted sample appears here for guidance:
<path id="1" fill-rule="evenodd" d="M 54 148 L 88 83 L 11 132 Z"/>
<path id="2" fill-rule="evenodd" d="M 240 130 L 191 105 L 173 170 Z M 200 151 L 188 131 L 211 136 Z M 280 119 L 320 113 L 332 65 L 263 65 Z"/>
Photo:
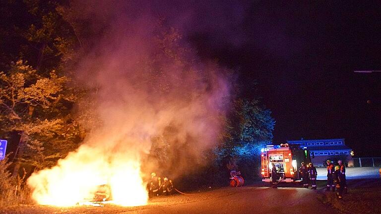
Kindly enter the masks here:
<path id="1" fill-rule="evenodd" d="M 244 94 L 272 110 L 274 143 L 345 138 L 356 157 L 380 157 L 381 72 L 354 73 L 381 70 L 380 1 L 239 8 L 234 29 L 189 38 L 203 57 L 238 70 Z"/>

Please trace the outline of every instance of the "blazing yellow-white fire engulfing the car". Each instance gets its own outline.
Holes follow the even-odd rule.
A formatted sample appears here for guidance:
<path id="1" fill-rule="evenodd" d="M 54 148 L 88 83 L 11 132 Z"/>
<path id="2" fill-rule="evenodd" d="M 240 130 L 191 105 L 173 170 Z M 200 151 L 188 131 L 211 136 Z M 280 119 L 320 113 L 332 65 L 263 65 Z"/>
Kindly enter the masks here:
<path id="1" fill-rule="evenodd" d="M 75 206 L 91 201 L 99 185 L 107 184 L 111 188 L 111 203 L 146 205 L 148 194 L 137 158 L 120 152 L 105 155 L 102 149 L 82 145 L 57 166 L 41 170 L 28 179 L 32 198 L 40 205 Z"/>

